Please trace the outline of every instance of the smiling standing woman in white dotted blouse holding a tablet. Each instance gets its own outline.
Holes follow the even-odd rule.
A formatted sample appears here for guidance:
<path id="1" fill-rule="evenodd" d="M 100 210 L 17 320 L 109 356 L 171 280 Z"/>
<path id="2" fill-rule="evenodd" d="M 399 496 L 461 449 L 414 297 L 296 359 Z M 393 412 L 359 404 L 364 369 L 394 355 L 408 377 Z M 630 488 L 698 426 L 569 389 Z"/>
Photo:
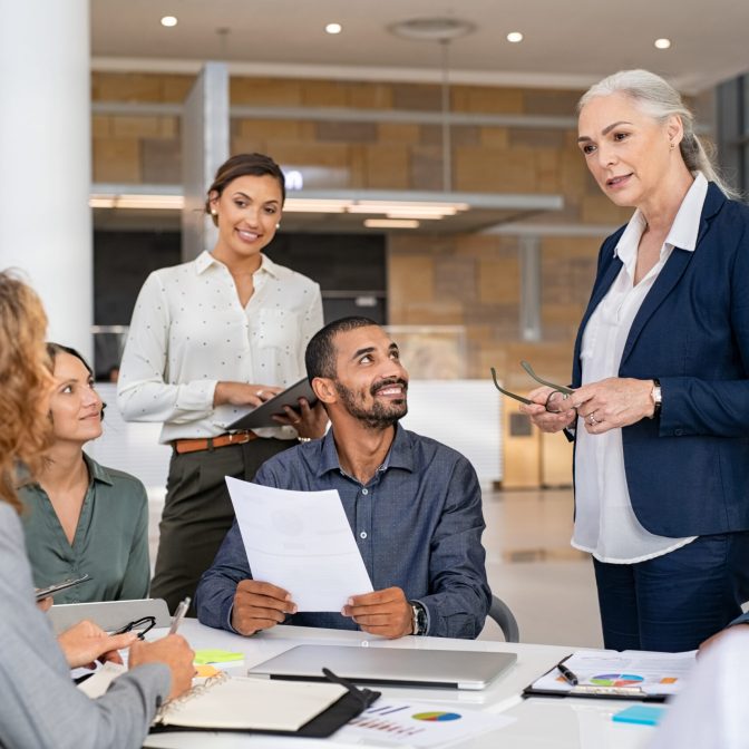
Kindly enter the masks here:
<path id="1" fill-rule="evenodd" d="M 278 427 L 228 432 L 304 373 L 304 349 L 322 327 L 320 286 L 276 265 L 283 173 L 262 154 L 223 164 L 206 213 L 218 227 L 212 252 L 152 273 L 133 312 L 118 382 L 128 421 L 162 421 L 173 447 L 152 595 L 174 610 L 194 596 L 234 519 L 225 476 L 252 479 L 271 456 L 321 437 L 321 407 L 288 409 Z"/>

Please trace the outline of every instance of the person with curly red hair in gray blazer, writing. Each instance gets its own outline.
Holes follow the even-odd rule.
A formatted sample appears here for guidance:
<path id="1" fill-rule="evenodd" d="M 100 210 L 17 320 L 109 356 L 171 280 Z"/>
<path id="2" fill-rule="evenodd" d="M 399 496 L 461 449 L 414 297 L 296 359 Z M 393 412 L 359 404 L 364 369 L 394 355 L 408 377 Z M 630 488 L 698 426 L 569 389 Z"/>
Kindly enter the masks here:
<path id="1" fill-rule="evenodd" d="M 192 684 L 193 651 L 179 635 L 130 648 L 130 671 L 97 700 L 70 680 L 72 662 L 35 602 L 16 496 L 19 463 L 31 475 L 46 445 L 51 376 L 47 319 L 35 292 L 0 272 L 0 746 L 126 749 L 143 746 L 160 703 Z M 91 638 L 96 658 L 121 644 Z M 71 652 L 68 653 L 71 655 Z M 84 660 L 85 662 L 85 660 Z"/>

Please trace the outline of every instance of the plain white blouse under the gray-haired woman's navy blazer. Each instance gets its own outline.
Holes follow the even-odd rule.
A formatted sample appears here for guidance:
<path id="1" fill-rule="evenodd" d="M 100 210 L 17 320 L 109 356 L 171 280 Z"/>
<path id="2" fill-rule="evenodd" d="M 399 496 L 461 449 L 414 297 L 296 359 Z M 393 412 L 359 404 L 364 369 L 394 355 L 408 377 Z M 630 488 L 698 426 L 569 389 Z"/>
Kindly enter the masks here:
<path id="1" fill-rule="evenodd" d="M 614 253 L 623 266 L 590 317 L 581 348 L 583 385 L 619 377 L 632 322 L 674 246 L 694 251 L 708 182 L 697 174 L 661 247 L 659 262 L 634 285 L 638 246 L 646 223 L 635 211 Z M 575 528 L 572 545 L 601 562 L 632 564 L 668 554 L 694 541 L 656 536 L 640 525 L 632 509 L 624 470 L 622 430 L 590 435 L 577 425 L 575 449 Z"/>

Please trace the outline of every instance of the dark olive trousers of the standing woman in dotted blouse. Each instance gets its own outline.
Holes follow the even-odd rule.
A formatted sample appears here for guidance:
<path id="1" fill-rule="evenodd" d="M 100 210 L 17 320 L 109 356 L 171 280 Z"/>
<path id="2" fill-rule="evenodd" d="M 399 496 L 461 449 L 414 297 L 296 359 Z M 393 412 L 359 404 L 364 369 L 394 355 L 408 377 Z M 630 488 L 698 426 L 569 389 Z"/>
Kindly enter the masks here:
<path id="1" fill-rule="evenodd" d="M 186 595 L 195 600 L 201 575 L 213 564 L 234 509 L 224 477 L 252 480 L 260 466 L 294 440 L 255 439 L 215 450 L 172 454 L 159 524 L 150 595 L 174 612 Z M 191 606 L 189 615 L 194 615 Z"/>

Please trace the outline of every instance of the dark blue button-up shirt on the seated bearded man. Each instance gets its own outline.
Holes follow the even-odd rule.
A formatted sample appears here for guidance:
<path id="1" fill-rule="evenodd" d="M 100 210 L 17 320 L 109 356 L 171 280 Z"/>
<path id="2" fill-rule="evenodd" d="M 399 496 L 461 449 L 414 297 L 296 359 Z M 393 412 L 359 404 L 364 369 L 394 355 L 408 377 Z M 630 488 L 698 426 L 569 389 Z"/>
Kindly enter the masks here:
<path id="1" fill-rule="evenodd" d="M 376 591 L 398 586 L 427 610 L 427 634 L 476 638 L 492 593 L 486 578 L 481 493 L 459 453 L 396 427 L 388 457 L 362 485 L 341 468 L 332 429 L 268 460 L 255 483 L 282 489 L 335 489 Z M 203 624 L 233 631 L 236 585 L 252 577 L 236 522 L 196 592 Z M 269 580 L 266 582 L 273 582 Z M 302 612 L 288 624 L 358 629 L 339 612 Z"/>

